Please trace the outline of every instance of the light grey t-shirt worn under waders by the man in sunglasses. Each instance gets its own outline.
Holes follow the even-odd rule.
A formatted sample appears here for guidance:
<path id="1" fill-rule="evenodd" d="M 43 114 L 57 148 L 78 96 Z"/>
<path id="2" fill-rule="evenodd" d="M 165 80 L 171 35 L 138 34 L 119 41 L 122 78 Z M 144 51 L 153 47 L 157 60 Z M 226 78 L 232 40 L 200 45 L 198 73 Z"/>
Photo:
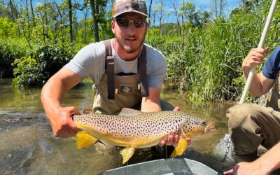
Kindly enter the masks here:
<path id="1" fill-rule="evenodd" d="M 151 45 L 145 45 L 148 86 L 161 89 L 165 80 L 167 62 L 159 50 L 151 47 Z M 137 73 L 138 57 L 132 61 L 120 59 L 113 45 L 112 54 L 115 61 L 115 73 Z M 70 69 L 82 79 L 90 77 L 94 84 L 99 85 L 99 80 L 105 73 L 105 57 L 106 48 L 103 42 L 90 43 L 82 48 L 64 67 Z"/>

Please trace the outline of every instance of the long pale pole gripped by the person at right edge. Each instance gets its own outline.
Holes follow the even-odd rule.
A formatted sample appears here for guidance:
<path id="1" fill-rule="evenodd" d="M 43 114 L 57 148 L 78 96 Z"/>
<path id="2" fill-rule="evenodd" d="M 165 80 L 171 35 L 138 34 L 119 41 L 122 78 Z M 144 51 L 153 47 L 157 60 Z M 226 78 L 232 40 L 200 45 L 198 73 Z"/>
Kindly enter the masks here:
<path id="1" fill-rule="evenodd" d="M 263 48 L 263 45 L 265 43 L 265 39 L 267 38 L 267 33 L 269 31 L 269 27 L 270 27 L 270 24 L 272 22 L 272 18 L 273 18 L 274 11 L 276 9 L 277 3 L 278 3 L 278 0 L 273 0 L 272 1 L 272 6 L 270 7 L 270 10 L 269 10 L 269 13 L 268 13 L 268 16 L 267 16 L 267 21 L 265 22 L 265 28 L 262 31 L 262 36 L 260 38 L 260 43 L 258 43 L 258 48 Z M 246 85 L 244 87 L 244 90 L 243 90 L 243 93 L 242 93 L 239 104 L 243 104 L 245 102 L 246 95 L 247 95 L 248 90 L 251 86 L 254 74 L 255 74 L 255 67 L 252 67 L 250 69 L 249 74 L 248 74 L 248 78 L 246 80 Z"/>

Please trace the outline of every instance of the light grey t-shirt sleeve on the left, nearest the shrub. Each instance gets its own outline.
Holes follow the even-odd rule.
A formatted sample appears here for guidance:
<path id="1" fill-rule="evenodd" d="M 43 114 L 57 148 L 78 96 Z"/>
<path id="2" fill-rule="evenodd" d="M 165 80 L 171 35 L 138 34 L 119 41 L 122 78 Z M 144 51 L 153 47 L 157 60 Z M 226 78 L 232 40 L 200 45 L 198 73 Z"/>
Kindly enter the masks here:
<path id="1" fill-rule="evenodd" d="M 91 43 L 80 49 L 64 67 L 82 79 L 90 77 L 94 83 L 99 83 L 99 79 L 105 71 L 105 55 L 104 43 Z"/>

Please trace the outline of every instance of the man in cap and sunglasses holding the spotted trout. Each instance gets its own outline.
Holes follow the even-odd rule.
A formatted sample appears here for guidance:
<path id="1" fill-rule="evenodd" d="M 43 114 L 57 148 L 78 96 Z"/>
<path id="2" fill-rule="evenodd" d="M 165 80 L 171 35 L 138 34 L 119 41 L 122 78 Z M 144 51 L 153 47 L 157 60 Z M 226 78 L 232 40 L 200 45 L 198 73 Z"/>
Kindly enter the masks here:
<path id="1" fill-rule="evenodd" d="M 86 77 L 94 82 L 93 110 L 97 113 L 116 113 L 139 102 L 141 111 L 162 110 L 160 91 L 167 65 L 158 50 L 144 45 L 148 30 L 146 2 L 116 0 L 112 14 L 115 38 L 82 48 L 42 89 L 41 101 L 55 137 L 73 137 L 80 131 L 71 120 L 78 109 L 62 107 L 62 101 L 66 90 Z M 176 146 L 178 141 L 178 135 L 169 135 L 166 144 Z M 161 141 L 159 145 L 164 144 Z"/>

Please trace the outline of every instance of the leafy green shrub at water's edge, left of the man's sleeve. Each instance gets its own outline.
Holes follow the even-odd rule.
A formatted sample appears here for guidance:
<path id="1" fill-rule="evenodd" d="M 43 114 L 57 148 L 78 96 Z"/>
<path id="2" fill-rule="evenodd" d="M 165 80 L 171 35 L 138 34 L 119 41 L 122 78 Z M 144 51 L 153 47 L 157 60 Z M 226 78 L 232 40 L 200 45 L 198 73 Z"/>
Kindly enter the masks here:
<path id="1" fill-rule="evenodd" d="M 69 49 L 70 50 L 70 49 Z M 15 87 L 42 86 L 71 59 L 71 52 L 54 45 L 35 48 L 30 57 L 15 59 Z"/>

